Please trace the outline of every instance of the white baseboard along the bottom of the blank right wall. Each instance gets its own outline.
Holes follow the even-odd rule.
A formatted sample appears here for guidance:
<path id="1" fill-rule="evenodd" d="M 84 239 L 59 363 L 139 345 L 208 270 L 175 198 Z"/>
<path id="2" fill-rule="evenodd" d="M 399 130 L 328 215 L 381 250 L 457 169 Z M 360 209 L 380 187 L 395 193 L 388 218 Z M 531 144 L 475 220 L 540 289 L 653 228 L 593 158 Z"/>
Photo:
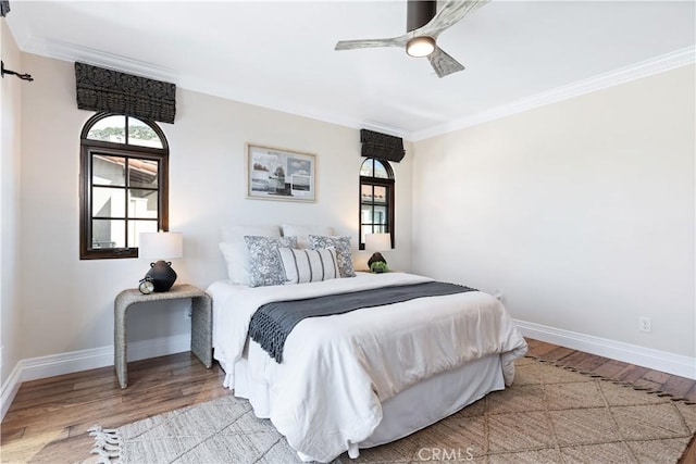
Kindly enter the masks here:
<path id="1" fill-rule="evenodd" d="M 696 380 L 696 358 L 515 319 L 523 336 Z"/>

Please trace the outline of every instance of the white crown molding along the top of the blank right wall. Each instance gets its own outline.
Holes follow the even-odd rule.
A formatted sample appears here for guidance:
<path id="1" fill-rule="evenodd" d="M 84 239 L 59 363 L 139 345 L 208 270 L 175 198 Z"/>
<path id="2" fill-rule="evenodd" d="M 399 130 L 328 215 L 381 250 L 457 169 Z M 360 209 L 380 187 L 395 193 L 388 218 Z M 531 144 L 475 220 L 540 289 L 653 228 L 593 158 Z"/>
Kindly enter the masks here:
<path id="1" fill-rule="evenodd" d="M 595 77 L 515 100 L 472 116 L 413 131 L 410 134 L 410 139 L 412 141 L 424 140 L 694 63 L 696 63 L 696 46 L 686 47 Z"/>

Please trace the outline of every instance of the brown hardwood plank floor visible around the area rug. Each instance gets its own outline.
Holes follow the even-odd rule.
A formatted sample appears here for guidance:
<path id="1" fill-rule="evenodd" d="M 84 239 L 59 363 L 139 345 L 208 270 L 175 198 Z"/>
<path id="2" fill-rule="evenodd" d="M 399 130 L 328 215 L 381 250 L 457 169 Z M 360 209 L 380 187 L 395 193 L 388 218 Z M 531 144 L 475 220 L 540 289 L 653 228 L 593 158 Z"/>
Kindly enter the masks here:
<path id="1" fill-rule="evenodd" d="M 584 372 L 661 390 L 696 402 L 696 381 L 527 339 L 529 354 Z M 3 463 L 74 463 L 90 457 L 87 429 L 134 421 L 229 394 L 223 372 L 206 369 L 190 353 L 128 363 L 128 388 L 113 367 L 27 381 L 22 385 L 0 434 Z M 692 440 L 683 463 L 696 463 Z"/>

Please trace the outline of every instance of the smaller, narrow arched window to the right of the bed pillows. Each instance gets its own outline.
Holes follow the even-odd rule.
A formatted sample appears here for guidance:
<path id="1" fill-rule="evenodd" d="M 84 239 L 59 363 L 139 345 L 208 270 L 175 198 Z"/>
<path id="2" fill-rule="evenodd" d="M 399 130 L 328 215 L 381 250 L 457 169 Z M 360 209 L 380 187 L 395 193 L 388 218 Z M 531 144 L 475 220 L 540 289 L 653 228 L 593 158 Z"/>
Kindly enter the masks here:
<path id="1" fill-rule="evenodd" d="M 368 158 L 360 166 L 360 250 L 365 235 L 390 234 L 394 248 L 394 171 L 384 160 Z"/>

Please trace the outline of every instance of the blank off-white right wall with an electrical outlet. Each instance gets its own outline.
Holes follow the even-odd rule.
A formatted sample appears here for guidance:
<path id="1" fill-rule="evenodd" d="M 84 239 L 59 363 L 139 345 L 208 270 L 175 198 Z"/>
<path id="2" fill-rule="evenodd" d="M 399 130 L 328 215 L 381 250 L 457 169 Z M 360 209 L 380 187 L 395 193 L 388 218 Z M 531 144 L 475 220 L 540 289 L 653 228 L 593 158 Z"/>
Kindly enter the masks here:
<path id="1" fill-rule="evenodd" d="M 694 106 L 692 65 L 415 142 L 413 271 L 693 359 Z"/>

